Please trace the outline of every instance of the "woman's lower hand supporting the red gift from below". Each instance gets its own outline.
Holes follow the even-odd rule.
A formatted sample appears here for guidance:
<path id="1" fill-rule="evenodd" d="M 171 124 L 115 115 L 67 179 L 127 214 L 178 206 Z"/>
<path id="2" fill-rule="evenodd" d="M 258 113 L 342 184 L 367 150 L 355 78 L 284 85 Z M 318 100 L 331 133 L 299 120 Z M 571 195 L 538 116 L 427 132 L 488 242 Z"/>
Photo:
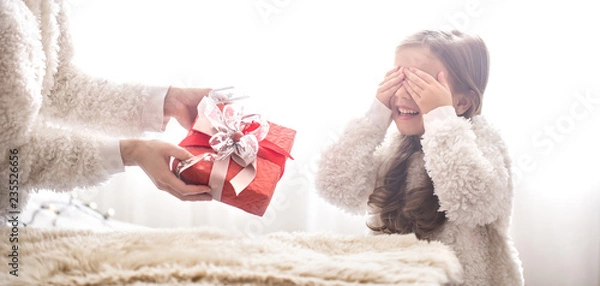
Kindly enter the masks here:
<path id="1" fill-rule="evenodd" d="M 139 166 L 157 188 L 169 192 L 182 201 L 208 201 L 208 186 L 187 185 L 179 180 L 169 167 L 171 157 L 186 160 L 193 155 L 187 150 L 160 140 L 126 139 L 120 141 L 121 157 L 125 166 Z"/>

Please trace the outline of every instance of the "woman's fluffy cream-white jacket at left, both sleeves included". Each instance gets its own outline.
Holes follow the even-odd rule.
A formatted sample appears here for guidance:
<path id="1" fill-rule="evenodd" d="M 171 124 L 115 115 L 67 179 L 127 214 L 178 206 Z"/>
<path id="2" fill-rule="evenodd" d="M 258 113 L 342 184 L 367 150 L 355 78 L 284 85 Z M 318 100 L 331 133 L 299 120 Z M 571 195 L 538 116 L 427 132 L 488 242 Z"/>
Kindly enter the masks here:
<path id="1" fill-rule="evenodd" d="M 105 181 L 122 168 L 118 136 L 163 126 L 157 89 L 93 78 L 71 63 L 67 8 L 0 0 L 1 225 L 32 190 Z"/>

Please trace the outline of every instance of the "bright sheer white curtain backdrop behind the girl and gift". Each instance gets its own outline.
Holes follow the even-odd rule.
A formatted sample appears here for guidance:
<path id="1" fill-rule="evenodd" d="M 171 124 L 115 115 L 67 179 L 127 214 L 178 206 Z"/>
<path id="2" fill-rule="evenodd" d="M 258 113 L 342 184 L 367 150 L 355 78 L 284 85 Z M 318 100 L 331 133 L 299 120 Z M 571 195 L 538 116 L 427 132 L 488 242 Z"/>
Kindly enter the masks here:
<path id="1" fill-rule="evenodd" d="M 491 52 L 483 112 L 514 161 L 512 232 L 528 285 L 600 283 L 600 65 L 597 9 L 586 1 L 77 1 L 78 63 L 150 84 L 244 87 L 246 101 L 298 131 L 263 218 L 218 202 L 180 202 L 138 169 L 90 191 L 116 218 L 152 227 L 216 226 L 362 233 L 361 217 L 320 200 L 320 151 L 365 111 L 395 45 L 420 29 L 479 34 Z M 174 122 L 172 122 L 174 123 Z M 170 124 L 151 135 L 178 143 Z"/>

